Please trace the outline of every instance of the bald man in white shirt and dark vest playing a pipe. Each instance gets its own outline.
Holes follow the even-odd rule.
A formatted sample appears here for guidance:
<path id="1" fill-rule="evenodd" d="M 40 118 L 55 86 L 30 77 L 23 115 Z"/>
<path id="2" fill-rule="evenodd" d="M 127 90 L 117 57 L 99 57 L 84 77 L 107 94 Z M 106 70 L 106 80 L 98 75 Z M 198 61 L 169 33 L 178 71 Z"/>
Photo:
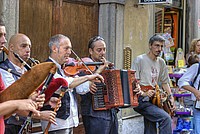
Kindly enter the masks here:
<path id="1" fill-rule="evenodd" d="M 24 61 L 27 61 L 30 57 L 31 41 L 25 34 L 15 34 L 13 35 L 8 43 L 8 58 L 0 64 L 0 66 L 4 66 L 6 68 L 10 68 L 18 73 L 23 74 L 26 72 L 26 68 L 23 64 L 14 56 L 13 52 L 19 55 Z M 19 77 L 0 69 L 2 79 L 4 81 L 5 87 L 10 86 L 14 83 Z M 56 101 L 56 100 L 55 100 Z M 56 103 L 56 102 L 55 102 Z M 24 115 L 24 113 L 20 113 L 20 115 Z M 35 118 L 47 120 L 55 124 L 55 115 L 56 113 L 53 111 L 41 111 L 40 116 L 36 116 Z M 25 117 L 19 115 L 13 115 L 6 121 L 6 134 L 18 134 L 21 129 L 21 125 L 25 121 Z"/>

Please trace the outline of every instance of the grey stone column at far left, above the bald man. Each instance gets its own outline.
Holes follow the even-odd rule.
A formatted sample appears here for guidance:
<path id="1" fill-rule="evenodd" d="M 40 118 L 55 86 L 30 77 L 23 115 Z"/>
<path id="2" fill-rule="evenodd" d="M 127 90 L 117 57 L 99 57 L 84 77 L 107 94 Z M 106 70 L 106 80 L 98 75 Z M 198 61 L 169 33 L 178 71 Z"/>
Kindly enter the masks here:
<path id="1" fill-rule="evenodd" d="M 0 18 L 6 25 L 7 40 L 18 32 L 19 0 L 0 0 Z"/>

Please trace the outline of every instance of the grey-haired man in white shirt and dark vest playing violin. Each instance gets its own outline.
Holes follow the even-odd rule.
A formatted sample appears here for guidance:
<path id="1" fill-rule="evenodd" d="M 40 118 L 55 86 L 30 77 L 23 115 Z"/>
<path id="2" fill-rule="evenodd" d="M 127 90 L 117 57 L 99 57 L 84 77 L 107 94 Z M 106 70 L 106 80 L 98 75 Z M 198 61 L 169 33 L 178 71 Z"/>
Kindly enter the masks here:
<path id="1" fill-rule="evenodd" d="M 100 78 L 102 76 L 98 74 L 86 75 L 82 77 L 70 77 L 65 74 L 61 65 L 67 63 L 70 59 L 72 44 L 67 36 L 57 34 L 51 37 L 49 41 L 50 56 L 47 61 L 54 62 L 58 68 L 54 78 L 64 78 L 69 84 L 71 90 L 66 92 L 61 99 L 62 106 L 57 111 L 56 123 L 57 125 L 51 125 L 49 134 L 72 134 L 73 127 L 77 127 L 79 124 L 78 109 L 75 93 L 84 94 L 89 92 L 89 81 Z M 56 96 L 55 93 L 53 96 Z M 42 121 L 42 128 L 45 130 L 47 123 Z"/>

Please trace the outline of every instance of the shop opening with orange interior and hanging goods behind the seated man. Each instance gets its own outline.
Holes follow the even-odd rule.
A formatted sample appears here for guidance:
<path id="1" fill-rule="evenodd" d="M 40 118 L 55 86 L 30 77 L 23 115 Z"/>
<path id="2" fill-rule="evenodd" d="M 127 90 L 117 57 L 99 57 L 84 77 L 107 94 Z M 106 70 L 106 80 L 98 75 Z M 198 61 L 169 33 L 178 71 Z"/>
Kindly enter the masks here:
<path id="1" fill-rule="evenodd" d="M 163 58 L 169 65 L 174 65 L 174 57 L 179 43 L 179 10 L 172 7 L 156 6 L 155 8 L 155 33 L 167 37 L 169 41 L 163 50 Z"/>

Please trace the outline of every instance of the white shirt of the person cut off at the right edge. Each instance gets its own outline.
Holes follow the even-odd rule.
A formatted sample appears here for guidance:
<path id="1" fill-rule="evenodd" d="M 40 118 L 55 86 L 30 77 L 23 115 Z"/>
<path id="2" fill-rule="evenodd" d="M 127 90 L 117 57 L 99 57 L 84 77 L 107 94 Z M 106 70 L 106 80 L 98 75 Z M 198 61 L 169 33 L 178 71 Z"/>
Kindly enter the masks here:
<path id="1" fill-rule="evenodd" d="M 193 64 L 191 67 L 189 67 L 187 71 L 183 74 L 183 76 L 178 80 L 178 86 L 182 88 L 183 86 L 190 85 L 190 82 L 194 81 L 194 78 L 198 73 L 198 69 L 199 69 L 199 63 Z M 195 89 L 198 88 L 199 80 L 200 80 L 200 75 L 198 75 L 196 81 L 194 82 Z M 193 101 L 196 100 L 196 97 L 193 93 L 191 98 Z"/>

